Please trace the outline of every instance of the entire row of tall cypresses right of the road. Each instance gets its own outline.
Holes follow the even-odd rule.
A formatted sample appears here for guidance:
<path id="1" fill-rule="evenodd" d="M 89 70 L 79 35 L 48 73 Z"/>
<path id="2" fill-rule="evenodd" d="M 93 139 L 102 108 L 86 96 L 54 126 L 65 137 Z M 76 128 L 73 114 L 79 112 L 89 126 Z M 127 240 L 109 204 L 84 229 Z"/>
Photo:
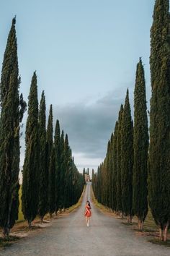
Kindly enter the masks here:
<path id="1" fill-rule="evenodd" d="M 142 60 L 136 69 L 134 124 L 129 95 L 107 145 L 104 162 L 93 172 L 94 195 L 103 205 L 138 227 L 148 213 L 148 205 L 167 240 L 170 227 L 170 15 L 169 0 L 156 0 L 151 27 L 151 110 L 150 129 L 146 107 L 146 82 Z"/>

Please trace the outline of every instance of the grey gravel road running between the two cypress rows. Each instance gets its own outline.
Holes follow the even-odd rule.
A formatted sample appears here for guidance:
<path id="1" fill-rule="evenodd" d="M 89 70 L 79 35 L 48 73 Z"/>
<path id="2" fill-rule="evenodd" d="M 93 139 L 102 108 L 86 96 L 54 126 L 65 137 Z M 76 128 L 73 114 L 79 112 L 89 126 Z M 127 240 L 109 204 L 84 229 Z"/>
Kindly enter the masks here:
<path id="1" fill-rule="evenodd" d="M 3 256 L 166 256 L 168 247 L 151 244 L 135 236 L 127 226 L 105 216 L 91 204 L 90 226 L 86 226 L 84 207 L 90 200 L 91 184 L 87 184 L 81 207 L 68 216 L 53 221 L 53 226 L 21 239 L 0 252 Z"/>

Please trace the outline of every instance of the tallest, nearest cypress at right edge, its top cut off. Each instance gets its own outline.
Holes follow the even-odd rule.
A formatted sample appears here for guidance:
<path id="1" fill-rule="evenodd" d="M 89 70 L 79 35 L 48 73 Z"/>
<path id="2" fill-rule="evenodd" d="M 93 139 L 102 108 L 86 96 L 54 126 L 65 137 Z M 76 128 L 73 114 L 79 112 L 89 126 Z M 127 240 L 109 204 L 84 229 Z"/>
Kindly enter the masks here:
<path id="1" fill-rule="evenodd" d="M 149 205 L 160 238 L 170 223 L 170 27 L 169 0 L 156 0 L 151 27 L 151 127 Z"/>

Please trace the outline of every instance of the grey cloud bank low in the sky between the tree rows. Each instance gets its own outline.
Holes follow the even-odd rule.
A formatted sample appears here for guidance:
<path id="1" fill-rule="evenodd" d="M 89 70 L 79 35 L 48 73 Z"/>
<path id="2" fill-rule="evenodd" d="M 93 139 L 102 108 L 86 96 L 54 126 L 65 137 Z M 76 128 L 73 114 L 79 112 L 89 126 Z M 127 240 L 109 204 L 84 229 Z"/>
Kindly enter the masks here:
<path id="1" fill-rule="evenodd" d="M 125 98 L 125 94 L 117 92 L 109 92 L 93 103 L 82 101 L 53 107 L 54 120 L 59 119 L 61 129 L 68 134 L 78 166 L 97 167 L 103 161 Z"/>

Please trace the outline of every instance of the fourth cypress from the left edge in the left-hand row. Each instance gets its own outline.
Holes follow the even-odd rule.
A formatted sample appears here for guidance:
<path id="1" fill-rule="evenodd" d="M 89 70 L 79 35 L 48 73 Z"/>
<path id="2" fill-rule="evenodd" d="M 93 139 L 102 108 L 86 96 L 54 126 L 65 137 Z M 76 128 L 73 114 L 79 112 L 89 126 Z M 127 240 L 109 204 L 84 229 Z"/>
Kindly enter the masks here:
<path id="1" fill-rule="evenodd" d="M 50 217 L 55 210 L 55 170 L 53 168 L 53 160 L 55 153 L 53 152 L 53 106 L 50 105 L 47 127 L 47 168 L 48 168 L 48 210 Z"/>

